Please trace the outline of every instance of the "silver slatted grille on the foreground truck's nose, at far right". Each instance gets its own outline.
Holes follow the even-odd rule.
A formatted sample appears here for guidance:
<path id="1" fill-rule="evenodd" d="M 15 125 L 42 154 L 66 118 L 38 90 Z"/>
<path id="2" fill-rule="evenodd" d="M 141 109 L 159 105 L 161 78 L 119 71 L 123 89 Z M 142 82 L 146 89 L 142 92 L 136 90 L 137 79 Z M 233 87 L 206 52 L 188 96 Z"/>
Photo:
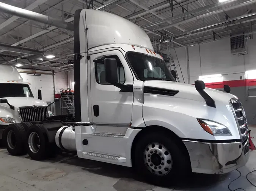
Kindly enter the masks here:
<path id="1" fill-rule="evenodd" d="M 238 98 L 231 99 L 231 104 L 234 108 L 235 117 L 239 124 L 239 129 L 242 136 L 242 144 L 243 144 L 243 152 L 247 154 L 249 151 L 249 132 L 248 132 L 248 125 L 247 119 L 245 116 L 245 111 L 243 110 L 242 103 Z"/>

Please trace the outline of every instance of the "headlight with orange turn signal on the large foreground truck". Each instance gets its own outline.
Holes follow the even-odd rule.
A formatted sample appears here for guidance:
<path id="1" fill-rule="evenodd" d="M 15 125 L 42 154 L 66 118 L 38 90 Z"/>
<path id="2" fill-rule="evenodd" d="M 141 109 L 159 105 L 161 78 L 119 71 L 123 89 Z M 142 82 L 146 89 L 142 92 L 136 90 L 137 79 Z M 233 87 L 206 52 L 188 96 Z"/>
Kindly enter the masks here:
<path id="1" fill-rule="evenodd" d="M 220 123 L 212 122 L 205 119 L 197 119 L 204 131 L 209 132 L 213 136 L 232 136 L 229 129 Z"/>

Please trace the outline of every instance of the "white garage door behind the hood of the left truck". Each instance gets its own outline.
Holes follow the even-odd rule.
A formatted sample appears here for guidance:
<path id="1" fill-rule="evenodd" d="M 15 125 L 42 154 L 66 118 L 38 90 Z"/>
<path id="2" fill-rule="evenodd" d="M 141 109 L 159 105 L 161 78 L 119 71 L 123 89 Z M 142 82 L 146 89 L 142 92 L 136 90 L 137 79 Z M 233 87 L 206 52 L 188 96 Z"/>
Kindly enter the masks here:
<path id="1" fill-rule="evenodd" d="M 45 102 L 53 102 L 53 76 L 47 74 L 27 74 L 20 73 L 24 82 L 31 83 L 31 91 L 34 97 L 38 98 L 38 89 L 42 90 L 42 100 Z"/>

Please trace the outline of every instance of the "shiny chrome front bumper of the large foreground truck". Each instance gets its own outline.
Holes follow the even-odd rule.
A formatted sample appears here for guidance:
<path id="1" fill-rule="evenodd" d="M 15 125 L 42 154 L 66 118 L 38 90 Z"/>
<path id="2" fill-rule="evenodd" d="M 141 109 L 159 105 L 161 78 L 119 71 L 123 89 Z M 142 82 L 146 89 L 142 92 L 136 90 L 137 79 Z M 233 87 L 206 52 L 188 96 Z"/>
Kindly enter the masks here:
<path id="1" fill-rule="evenodd" d="M 188 149 L 192 172 L 205 174 L 228 173 L 244 166 L 249 159 L 242 142 L 207 143 L 182 140 Z M 247 145 L 249 146 L 249 144 Z"/>

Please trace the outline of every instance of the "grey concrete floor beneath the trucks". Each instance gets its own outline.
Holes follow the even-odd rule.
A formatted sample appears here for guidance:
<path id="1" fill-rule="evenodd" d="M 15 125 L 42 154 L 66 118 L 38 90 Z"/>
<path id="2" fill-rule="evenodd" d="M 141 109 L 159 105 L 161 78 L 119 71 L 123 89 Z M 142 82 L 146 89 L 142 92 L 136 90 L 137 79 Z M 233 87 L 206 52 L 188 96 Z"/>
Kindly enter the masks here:
<path id="1" fill-rule="evenodd" d="M 256 128 L 251 129 L 256 145 Z M 232 190 L 256 190 L 245 178 L 256 169 L 256 151 L 250 151 L 250 155 L 247 165 L 239 169 L 242 176 L 231 184 Z M 170 188 L 162 188 L 135 180 L 131 168 L 79 159 L 74 153 L 39 162 L 28 155 L 10 156 L 5 148 L 0 149 L 0 191 L 226 191 L 238 176 L 238 171 L 193 174 Z M 248 178 L 256 184 L 256 172 Z"/>

